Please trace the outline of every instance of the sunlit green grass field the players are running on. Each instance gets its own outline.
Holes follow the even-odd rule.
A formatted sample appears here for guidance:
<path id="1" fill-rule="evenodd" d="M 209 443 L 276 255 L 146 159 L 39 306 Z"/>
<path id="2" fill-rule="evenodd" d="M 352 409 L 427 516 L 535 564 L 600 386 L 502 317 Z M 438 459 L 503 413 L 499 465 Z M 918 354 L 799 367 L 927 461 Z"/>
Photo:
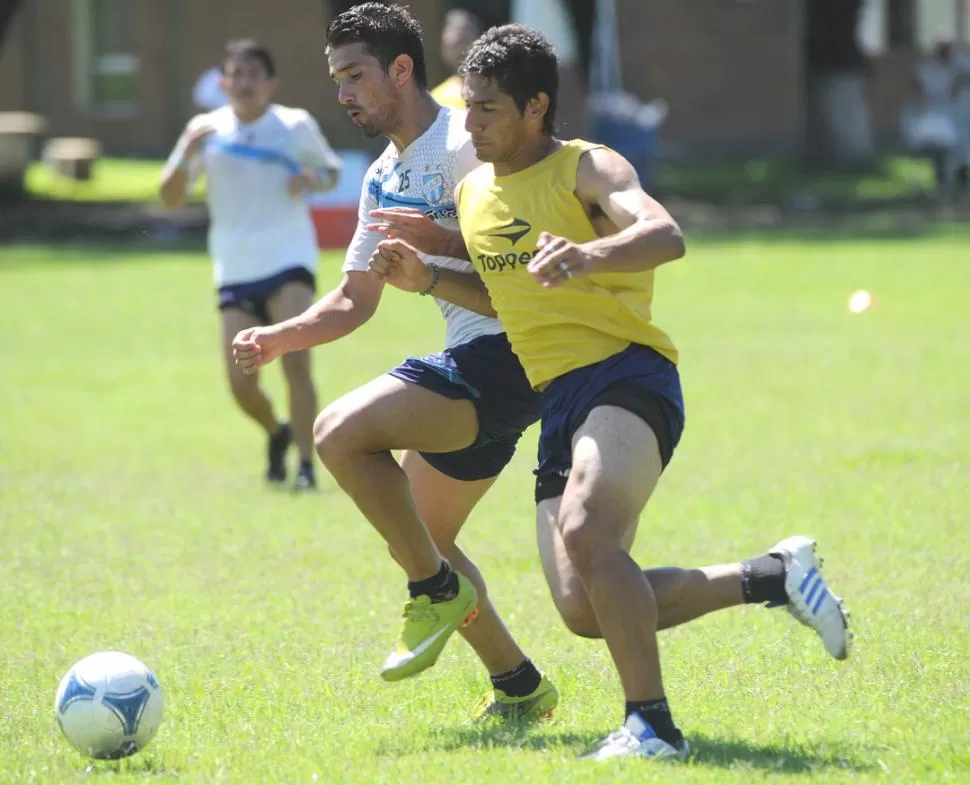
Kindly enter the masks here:
<path id="1" fill-rule="evenodd" d="M 402 577 L 333 483 L 263 486 L 204 255 L 3 248 L 0 783 L 970 781 L 968 248 L 964 230 L 697 240 L 660 273 L 688 427 L 635 554 L 694 565 L 815 535 L 856 631 L 844 664 L 781 611 L 663 633 L 695 755 L 661 769 L 577 760 L 621 703 L 605 647 L 563 628 L 542 581 L 534 432 L 463 542 L 563 702 L 531 731 L 479 729 L 486 679 L 457 638 L 418 679 L 378 678 Z M 338 269 L 324 258 L 321 281 Z M 853 315 L 860 288 L 876 305 Z M 428 303 L 388 293 L 316 350 L 322 397 L 441 335 Z M 101 649 L 166 690 L 152 746 L 115 764 L 79 757 L 53 714 Z"/>

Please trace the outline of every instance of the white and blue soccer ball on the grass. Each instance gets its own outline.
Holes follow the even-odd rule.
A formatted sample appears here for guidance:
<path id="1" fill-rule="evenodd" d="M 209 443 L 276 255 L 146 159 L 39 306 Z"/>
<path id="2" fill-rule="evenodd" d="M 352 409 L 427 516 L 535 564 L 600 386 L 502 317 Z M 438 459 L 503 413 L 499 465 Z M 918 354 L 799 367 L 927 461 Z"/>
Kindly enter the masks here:
<path id="1" fill-rule="evenodd" d="M 129 654 L 102 651 L 76 663 L 54 699 L 57 724 L 84 755 L 116 760 L 152 740 L 162 721 L 162 688 Z"/>

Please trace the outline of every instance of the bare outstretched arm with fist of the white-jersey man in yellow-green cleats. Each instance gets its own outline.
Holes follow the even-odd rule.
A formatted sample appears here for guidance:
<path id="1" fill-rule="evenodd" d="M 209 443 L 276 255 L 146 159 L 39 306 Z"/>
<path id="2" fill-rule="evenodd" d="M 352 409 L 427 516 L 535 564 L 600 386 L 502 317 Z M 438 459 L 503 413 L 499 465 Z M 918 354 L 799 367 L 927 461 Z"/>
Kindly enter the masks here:
<path id="1" fill-rule="evenodd" d="M 280 355 L 349 335 L 374 315 L 383 289 L 384 284 L 373 273 L 348 271 L 340 286 L 299 316 L 239 333 L 232 342 L 236 365 L 252 374 Z"/>

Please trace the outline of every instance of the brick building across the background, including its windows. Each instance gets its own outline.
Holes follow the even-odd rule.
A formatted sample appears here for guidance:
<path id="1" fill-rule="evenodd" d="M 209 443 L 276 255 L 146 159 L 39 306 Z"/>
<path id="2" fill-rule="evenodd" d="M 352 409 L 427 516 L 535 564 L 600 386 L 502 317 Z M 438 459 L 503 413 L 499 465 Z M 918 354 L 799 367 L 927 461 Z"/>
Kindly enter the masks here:
<path id="1" fill-rule="evenodd" d="M 663 135 L 679 154 L 793 151 L 805 130 L 807 2 L 617 0 L 624 86 L 666 100 Z M 92 136 L 110 154 L 161 156 L 197 111 L 193 86 L 226 40 L 255 36 L 278 58 L 280 102 L 307 107 L 336 146 L 376 150 L 337 109 L 327 73 L 326 22 L 351 4 L 287 0 L 268 13 L 265 0 L 29 0 L 0 53 L 0 111 L 36 112 L 51 135 Z M 408 5 L 424 24 L 436 84 L 440 20 L 455 2 Z M 970 38 L 968 8 L 866 0 L 860 36 L 878 141 L 898 137 L 926 42 L 946 30 Z"/>

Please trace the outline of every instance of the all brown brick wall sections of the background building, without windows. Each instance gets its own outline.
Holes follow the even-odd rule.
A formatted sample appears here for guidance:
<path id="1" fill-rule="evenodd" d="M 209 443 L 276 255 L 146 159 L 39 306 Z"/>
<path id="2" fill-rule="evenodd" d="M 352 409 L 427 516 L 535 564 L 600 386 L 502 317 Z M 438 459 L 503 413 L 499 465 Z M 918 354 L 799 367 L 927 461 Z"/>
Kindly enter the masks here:
<path id="1" fill-rule="evenodd" d="M 138 2 L 139 109 L 130 117 L 92 115 L 77 106 L 71 2 L 31 2 L 0 57 L 0 110 L 40 111 L 53 135 L 96 136 L 113 154 L 163 155 L 196 111 L 191 95 L 198 76 L 219 63 L 226 40 L 255 36 L 277 56 L 277 100 L 310 110 L 335 146 L 365 144 L 337 106 L 327 72 L 325 0 L 286 0 L 285 13 L 269 12 L 273 5 L 266 0 Z M 442 2 L 408 3 L 425 28 L 432 84 L 443 77 L 436 56 Z M 791 149 L 802 130 L 802 2 L 617 0 L 625 86 L 670 104 L 664 137 L 675 149 L 711 155 Z M 28 22 L 43 53 L 32 75 L 26 69 Z M 891 138 L 907 100 L 913 54 L 894 52 L 872 65 L 874 126 L 880 137 Z M 28 95 L 31 78 L 38 88 L 34 96 Z M 581 133 L 580 118 L 570 117 L 581 114 L 581 105 L 565 93 L 565 133 Z M 366 144 L 376 151 L 383 142 Z"/>

